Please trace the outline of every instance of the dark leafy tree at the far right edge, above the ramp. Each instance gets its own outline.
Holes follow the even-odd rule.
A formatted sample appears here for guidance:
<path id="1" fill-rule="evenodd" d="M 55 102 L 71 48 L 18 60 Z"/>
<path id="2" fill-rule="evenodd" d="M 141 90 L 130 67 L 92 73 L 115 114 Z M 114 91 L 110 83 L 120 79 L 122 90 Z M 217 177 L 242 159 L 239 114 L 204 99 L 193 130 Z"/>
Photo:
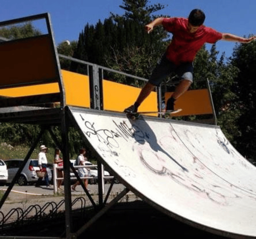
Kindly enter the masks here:
<path id="1" fill-rule="evenodd" d="M 248 158 L 256 160 L 256 41 L 237 45 L 232 64 L 239 69 L 235 79 L 235 91 L 242 111 L 238 121 L 241 130 L 241 136 L 237 137 L 238 150 Z"/>

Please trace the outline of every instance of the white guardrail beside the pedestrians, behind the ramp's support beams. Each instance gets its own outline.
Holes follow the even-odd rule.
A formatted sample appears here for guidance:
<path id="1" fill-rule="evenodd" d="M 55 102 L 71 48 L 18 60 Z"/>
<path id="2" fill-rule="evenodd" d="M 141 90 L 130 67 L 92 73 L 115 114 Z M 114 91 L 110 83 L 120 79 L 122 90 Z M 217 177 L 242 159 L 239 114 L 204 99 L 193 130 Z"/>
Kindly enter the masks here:
<path id="1" fill-rule="evenodd" d="M 78 169 L 78 168 L 86 168 L 86 169 L 90 169 L 90 168 L 94 168 L 96 167 L 97 165 L 93 164 L 93 165 L 86 165 L 86 166 L 74 166 L 75 169 Z M 58 178 L 57 177 L 57 170 L 58 169 L 63 169 L 63 166 L 58 166 L 57 164 L 53 164 L 53 176 L 52 176 L 52 181 L 53 181 L 53 186 L 54 186 L 54 194 L 56 194 L 58 192 L 58 188 L 57 188 L 57 181 L 59 180 L 64 180 L 64 178 Z M 101 170 L 102 170 L 102 184 L 105 184 L 105 179 L 113 179 L 114 176 L 104 176 L 104 166 L 102 165 L 101 167 Z M 88 177 L 81 177 L 81 179 L 95 179 L 95 178 L 98 178 L 97 177 L 94 177 L 94 176 L 88 176 Z M 71 177 L 70 179 L 77 179 L 76 177 Z M 71 185 L 70 185 L 71 186 Z M 104 187 L 103 187 L 103 194 L 104 194 Z"/>

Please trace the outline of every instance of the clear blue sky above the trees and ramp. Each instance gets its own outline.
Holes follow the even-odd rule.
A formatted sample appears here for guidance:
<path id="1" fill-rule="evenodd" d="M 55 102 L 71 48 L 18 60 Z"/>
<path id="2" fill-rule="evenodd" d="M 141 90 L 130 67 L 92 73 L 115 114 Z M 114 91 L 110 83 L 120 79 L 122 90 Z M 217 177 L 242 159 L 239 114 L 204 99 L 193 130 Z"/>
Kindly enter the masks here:
<path id="1" fill-rule="evenodd" d="M 254 20 L 255 0 L 151 0 L 150 4 L 168 5 L 158 14 L 187 17 L 190 10 L 202 9 L 206 14 L 205 25 L 220 32 L 238 36 L 256 34 Z M 122 15 L 122 0 L 0 0 L 0 21 L 49 12 L 56 43 L 78 40 L 84 26 L 104 21 L 110 12 Z M 217 50 L 232 54 L 235 43 L 219 41 Z M 207 46 L 210 48 L 210 45 Z"/>

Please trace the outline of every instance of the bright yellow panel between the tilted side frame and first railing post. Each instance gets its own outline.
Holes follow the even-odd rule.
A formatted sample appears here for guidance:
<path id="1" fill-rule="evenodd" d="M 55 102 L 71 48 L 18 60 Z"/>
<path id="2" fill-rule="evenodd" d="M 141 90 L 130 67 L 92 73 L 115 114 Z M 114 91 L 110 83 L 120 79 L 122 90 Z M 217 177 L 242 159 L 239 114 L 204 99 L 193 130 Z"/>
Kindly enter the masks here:
<path id="1" fill-rule="evenodd" d="M 89 77 L 65 70 L 62 70 L 61 73 L 66 93 L 66 104 L 90 108 Z"/>

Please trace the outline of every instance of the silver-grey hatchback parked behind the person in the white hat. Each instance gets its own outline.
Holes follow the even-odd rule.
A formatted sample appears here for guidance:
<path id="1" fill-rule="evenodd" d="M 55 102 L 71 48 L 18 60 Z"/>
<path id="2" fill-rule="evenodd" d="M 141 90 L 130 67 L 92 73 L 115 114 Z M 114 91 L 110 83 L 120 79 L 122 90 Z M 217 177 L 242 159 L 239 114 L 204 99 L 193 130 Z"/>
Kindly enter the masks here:
<path id="1" fill-rule="evenodd" d="M 7 183 L 12 182 L 22 162 L 23 162 L 23 159 L 10 159 L 5 161 L 7 170 L 8 170 Z M 17 180 L 18 185 L 23 186 L 23 185 L 27 185 L 28 183 L 29 184 L 35 183 L 38 180 L 38 176 L 36 175 L 36 170 L 40 170 L 38 166 L 38 160 L 29 159 L 28 162 L 26 162 L 26 165 L 24 166 Z M 47 168 L 47 173 L 49 177 L 49 182 L 51 182 L 52 171 L 50 168 Z M 44 180 L 42 182 L 44 182 Z"/>

